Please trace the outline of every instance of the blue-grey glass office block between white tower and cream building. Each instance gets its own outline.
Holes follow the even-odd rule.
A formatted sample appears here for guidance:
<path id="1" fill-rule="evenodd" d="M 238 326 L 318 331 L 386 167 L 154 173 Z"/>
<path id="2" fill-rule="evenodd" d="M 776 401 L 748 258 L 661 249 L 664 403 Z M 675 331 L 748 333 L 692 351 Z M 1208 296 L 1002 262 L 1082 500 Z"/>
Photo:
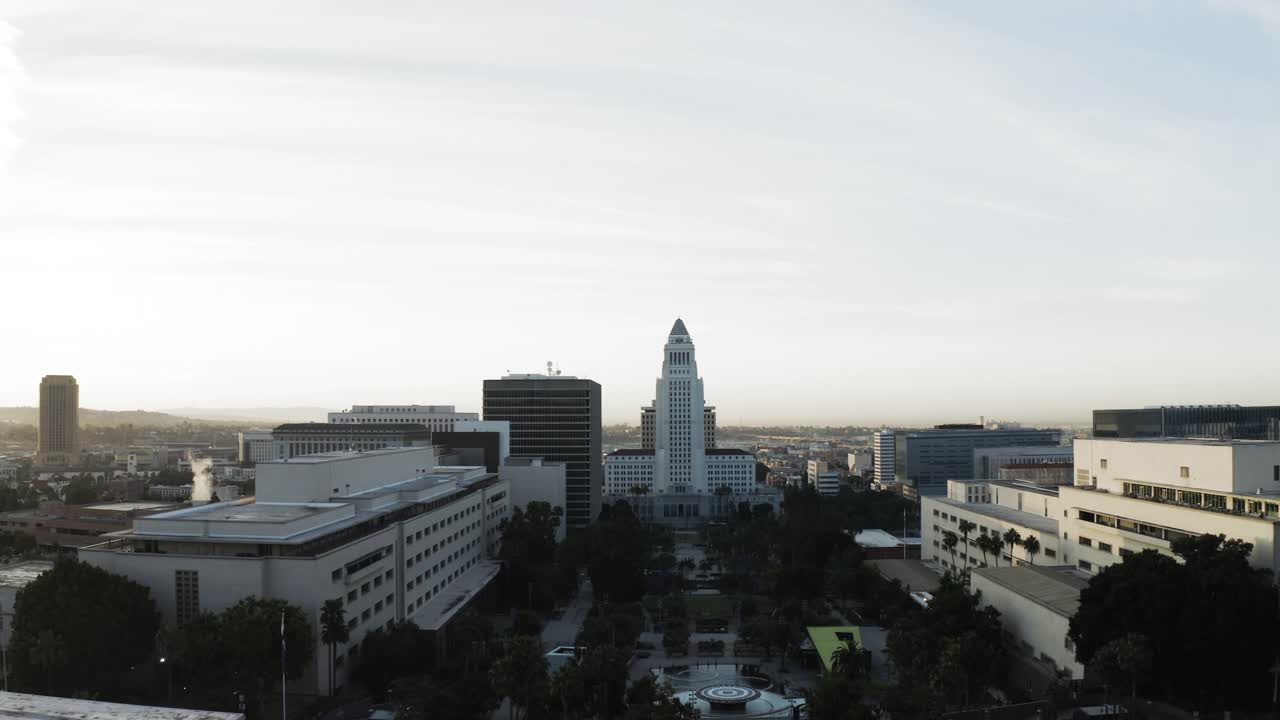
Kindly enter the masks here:
<path id="1" fill-rule="evenodd" d="M 931 430 L 893 434 L 893 477 L 910 497 L 937 492 L 951 479 L 972 479 L 974 451 L 984 447 L 1059 446 L 1061 430 L 1002 429 L 982 425 L 938 425 Z"/>

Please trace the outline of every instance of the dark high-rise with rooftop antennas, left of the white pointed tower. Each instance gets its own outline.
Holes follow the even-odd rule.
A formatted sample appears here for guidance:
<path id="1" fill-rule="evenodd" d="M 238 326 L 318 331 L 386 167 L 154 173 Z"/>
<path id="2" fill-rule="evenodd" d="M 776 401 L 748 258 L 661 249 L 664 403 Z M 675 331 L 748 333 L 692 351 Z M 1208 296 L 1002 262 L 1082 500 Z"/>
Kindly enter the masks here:
<path id="1" fill-rule="evenodd" d="M 484 382 L 484 419 L 511 423 L 511 455 L 564 464 L 564 529 L 591 524 L 604 486 L 600 383 L 568 375 Z"/>

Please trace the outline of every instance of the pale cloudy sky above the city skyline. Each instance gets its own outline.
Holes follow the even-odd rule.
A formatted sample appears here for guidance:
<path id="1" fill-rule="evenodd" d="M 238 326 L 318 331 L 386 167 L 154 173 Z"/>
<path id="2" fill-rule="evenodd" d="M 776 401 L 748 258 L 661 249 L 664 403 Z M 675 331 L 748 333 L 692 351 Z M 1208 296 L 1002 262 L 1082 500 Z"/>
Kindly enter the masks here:
<path id="1" fill-rule="evenodd" d="M 0 0 L 0 405 L 1280 404 L 1280 0 Z"/>

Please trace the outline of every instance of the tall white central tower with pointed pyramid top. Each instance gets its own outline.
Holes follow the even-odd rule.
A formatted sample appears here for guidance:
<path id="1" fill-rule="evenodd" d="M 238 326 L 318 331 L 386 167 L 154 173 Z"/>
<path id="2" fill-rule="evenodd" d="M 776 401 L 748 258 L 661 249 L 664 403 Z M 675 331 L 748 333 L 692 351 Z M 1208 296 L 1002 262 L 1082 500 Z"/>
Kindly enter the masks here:
<path id="1" fill-rule="evenodd" d="M 694 341 L 676 319 L 663 346 L 662 377 L 654 393 L 654 489 L 705 493 L 707 447 L 703 379 Z"/>

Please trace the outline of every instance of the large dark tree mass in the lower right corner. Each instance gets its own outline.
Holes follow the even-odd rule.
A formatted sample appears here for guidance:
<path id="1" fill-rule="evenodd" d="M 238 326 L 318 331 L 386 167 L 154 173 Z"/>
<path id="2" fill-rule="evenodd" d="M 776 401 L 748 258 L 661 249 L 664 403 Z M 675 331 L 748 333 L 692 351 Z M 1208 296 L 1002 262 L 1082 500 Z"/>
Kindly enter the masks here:
<path id="1" fill-rule="evenodd" d="M 1224 536 L 1181 538 L 1172 550 L 1183 562 L 1144 551 L 1091 578 L 1070 624 L 1076 660 L 1094 662 L 1112 641 L 1139 634 L 1151 650 L 1152 700 L 1267 705 L 1280 632 L 1271 574 L 1249 565 L 1252 544 Z"/>

